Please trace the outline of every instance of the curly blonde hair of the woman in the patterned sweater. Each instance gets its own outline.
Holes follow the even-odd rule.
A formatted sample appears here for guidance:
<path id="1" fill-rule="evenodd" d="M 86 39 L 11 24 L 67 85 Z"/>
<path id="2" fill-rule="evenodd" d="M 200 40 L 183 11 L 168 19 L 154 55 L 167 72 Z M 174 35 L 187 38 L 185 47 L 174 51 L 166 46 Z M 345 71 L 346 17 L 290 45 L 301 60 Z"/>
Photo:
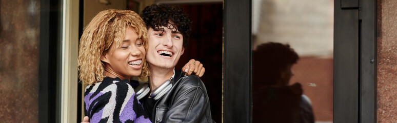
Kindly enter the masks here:
<path id="1" fill-rule="evenodd" d="M 83 84 L 95 84 L 103 81 L 105 74 L 101 56 L 111 45 L 119 47 L 124 38 L 126 28 L 131 27 L 142 39 L 147 51 L 148 32 L 142 18 L 130 10 L 109 9 L 99 12 L 92 18 L 80 39 L 78 51 L 79 77 Z M 149 76 L 146 60 L 143 61 L 142 72 L 139 77 Z"/>

